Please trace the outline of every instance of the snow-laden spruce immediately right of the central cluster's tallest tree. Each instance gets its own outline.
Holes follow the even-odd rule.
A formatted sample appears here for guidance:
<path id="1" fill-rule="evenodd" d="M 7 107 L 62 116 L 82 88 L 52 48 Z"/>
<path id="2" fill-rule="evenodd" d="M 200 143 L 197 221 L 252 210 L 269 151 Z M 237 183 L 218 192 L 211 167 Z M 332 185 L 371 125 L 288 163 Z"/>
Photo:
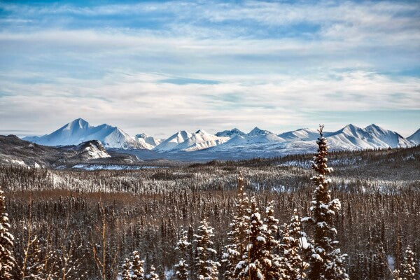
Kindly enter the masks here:
<path id="1" fill-rule="evenodd" d="M 241 261 L 235 267 L 237 279 L 264 280 L 264 263 L 266 255 L 264 247 L 266 237 L 264 235 L 264 223 L 262 223 L 260 211 L 255 203 L 255 197 L 251 197 L 251 218 L 248 224 L 248 245 L 242 255 Z"/>

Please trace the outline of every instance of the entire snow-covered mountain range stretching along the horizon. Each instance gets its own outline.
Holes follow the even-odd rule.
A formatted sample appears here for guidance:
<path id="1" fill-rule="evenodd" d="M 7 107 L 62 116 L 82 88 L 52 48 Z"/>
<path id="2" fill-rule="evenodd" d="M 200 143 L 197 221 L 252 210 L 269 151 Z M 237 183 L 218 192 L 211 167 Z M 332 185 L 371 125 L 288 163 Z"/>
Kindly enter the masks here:
<path id="1" fill-rule="evenodd" d="M 357 127 L 346 125 L 336 132 L 325 132 L 332 150 L 360 150 L 372 148 L 410 147 L 420 144 L 420 130 L 405 139 L 397 132 L 385 130 L 377 125 Z M 85 141 L 101 141 L 105 148 L 122 150 L 148 150 L 156 153 L 176 153 L 208 151 L 209 153 L 240 151 L 283 151 L 284 153 L 311 152 L 316 147 L 318 132 L 309 128 L 274 134 L 255 127 L 251 132 L 241 132 L 237 128 L 209 134 L 204 130 L 195 133 L 181 130 L 167 139 L 159 139 L 146 134 L 131 137 L 119 127 L 111 125 L 92 126 L 78 118 L 60 127 L 55 132 L 41 137 L 24 137 L 44 146 L 70 146 Z"/>

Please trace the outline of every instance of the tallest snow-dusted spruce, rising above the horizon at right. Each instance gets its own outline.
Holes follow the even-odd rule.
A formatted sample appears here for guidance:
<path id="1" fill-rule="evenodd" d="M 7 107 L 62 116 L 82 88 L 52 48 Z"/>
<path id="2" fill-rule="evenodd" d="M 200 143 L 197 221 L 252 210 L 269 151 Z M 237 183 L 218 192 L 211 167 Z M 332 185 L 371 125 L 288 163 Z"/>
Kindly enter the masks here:
<path id="1" fill-rule="evenodd" d="M 316 141 L 318 151 L 314 155 L 312 169 L 317 173 L 311 178 L 315 190 L 311 201 L 311 215 L 302 218 L 309 223 L 311 232 L 311 254 L 309 259 L 309 280 L 349 279 L 344 268 L 345 254 L 337 248 L 335 241 L 337 230 L 333 227 L 335 212 L 341 209 L 338 199 L 331 200 L 329 185 L 331 180 L 325 176 L 332 172 L 327 166 L 327 139 L 323 137 L 323 125 L 319 126 L 319 138 Z"/>

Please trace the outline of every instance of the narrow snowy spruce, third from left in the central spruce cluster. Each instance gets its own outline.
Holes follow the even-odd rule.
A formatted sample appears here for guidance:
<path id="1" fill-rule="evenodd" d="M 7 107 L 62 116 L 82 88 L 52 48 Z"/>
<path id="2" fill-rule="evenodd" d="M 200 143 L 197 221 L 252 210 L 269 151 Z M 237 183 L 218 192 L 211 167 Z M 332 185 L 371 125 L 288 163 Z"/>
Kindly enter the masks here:
<path id="1" fill-rule="evenodd" d="M 283 273 L 280 257 L 276 253 L 280 243 L 277 239 L 279 233 L 279 220 L 274 218 L 273 203 L 274 202 L 269 202 L 267 207 L 265 207 L 265 226 L 262 228 L 266 237 L 264 250 L 262 252 L 265 256 L 265 258 L 263 258 L 264 262 L 262 263 L 265 279 L 280 279 L 281 274 Z"/>

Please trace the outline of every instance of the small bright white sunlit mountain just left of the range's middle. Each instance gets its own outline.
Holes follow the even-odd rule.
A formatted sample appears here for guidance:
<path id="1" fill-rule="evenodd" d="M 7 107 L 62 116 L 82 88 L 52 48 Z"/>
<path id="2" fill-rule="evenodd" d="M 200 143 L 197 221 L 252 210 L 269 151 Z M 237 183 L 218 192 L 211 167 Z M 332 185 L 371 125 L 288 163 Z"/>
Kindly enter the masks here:
<path id="1" fill-rule="evenodd" d="M 172 150 L 176 151 L 197 151 L 204 148 L 210 148 L 213 146 L 218 146 L 226 141 L 229 137 L 217 137 L 216 135 L 209 134 L 204 130 L 198 130 L 190 138 L 182 143 L 176 145 Z"/>

